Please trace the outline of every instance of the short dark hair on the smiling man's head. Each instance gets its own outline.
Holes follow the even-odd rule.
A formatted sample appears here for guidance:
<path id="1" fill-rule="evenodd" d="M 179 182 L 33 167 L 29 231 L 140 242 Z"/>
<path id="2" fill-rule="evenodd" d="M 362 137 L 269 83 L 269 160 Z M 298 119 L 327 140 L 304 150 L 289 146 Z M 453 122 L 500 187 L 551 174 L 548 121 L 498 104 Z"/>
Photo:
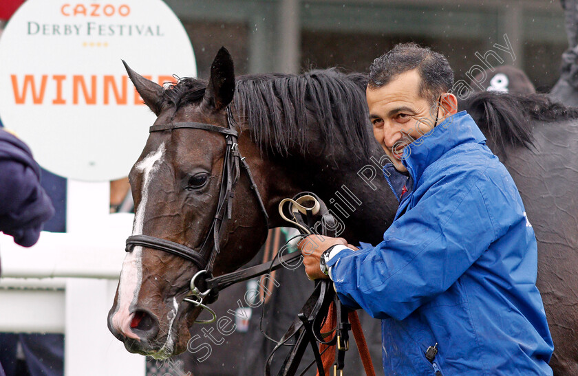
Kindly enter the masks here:
<path id="1" fill-rule="evenodd" d="M 453 71 L 447 58 L 416 43 L 400 43 L 376 58 L 370 66 L 367 85 L 370 89 L 378 89 L 398 74 L 415 68 L 421 77 L 420 96 L 431 103 L 453 86 Z"/>

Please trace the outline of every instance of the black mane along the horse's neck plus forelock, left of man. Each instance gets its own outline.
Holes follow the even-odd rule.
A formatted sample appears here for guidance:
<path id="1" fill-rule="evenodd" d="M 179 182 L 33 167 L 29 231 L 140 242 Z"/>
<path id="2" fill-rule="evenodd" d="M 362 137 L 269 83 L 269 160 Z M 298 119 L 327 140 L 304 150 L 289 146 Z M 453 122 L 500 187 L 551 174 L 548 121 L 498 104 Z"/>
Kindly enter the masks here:
<path id="1" fill-rule="evenodd" d="M 182 78 L 164 90 L 163 100 L 176 109 L 202 100 L 206 80 Z M 365 103 L 367 77 L 343 74 L 336 69 L 305 74 L 253 74 L 239 76 L 233 105 L 244 118 L 254 140 L 265 151 L 288 155 L 308 150 L 308 124 L 319 124 L 324 145 L 358 157 L 368 157 L 373 137 Z M 355 147 L 350 148 L 350 145 Z"/>

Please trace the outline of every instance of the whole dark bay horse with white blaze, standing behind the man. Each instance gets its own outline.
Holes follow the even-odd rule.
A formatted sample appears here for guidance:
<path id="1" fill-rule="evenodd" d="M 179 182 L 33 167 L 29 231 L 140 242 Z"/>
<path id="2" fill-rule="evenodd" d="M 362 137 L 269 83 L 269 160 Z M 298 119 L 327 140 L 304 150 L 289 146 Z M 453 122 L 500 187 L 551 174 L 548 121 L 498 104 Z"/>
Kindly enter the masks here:
<path id="1" fill-rule="evenodd" d="M 367 118 L 363 74 L 329 69 L 235 80 L 225 49 L 215 57 L 208 82 L 184 78 L 163 89 L 127 70 L 158 116 L 155 125 L 237 124 L 238 150 L 253 172 L 270 228 L 286 225 L 279 201 L 308 190 L 328 203 L 347 241 L 381 241 L 398 203 L 381 177 L 385 154 Z M 560 373 L 578 373 L 578 199 L 572 195 L 578 183 L 578 122 L 566 120 L 577 113 L 540 96 L 495 93 L 472 96 L 462 106 L 505 160 L 535 229 L 538 287 L 556 346 L 552 365 Z M 151 133 L 129 176 L 133 234 L 199 249 L 217 210 L 226 147 L 222 134 L 205 129 Z M 240 175 L 231 203 L 214 275 L 244 265 L 266 236 L 266 219 L 246 175 Z M 185 351 L 200 309 L 183 298 L 199 269 L 179 256 L 134 247 L 109 312 L 111 332 L 132 352 L 165 358 Z"/>

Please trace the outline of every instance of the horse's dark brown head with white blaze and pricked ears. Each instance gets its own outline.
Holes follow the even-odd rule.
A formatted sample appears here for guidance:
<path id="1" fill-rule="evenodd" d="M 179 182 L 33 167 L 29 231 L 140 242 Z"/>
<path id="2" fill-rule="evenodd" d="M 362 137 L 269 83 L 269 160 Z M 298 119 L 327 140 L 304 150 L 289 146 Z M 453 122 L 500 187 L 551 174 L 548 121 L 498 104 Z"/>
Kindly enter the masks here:
<path id="1" fill-rule="evenodd" d="M 195 281 L 202 290 L 211 272 L 217 276 L 237 269 L 264 243 L 266 215 L 259 210 L 259 194 L 250 188 L 252 179 L 239 166 L 244 157 L 260 176 L 259 169 L 267 166 L 228 109 L 235 76 L 226 49 L 215 57 L 208 82 L 185 78 L 164 89 L 125 67 L 157 120 L 129 174 L 133 243 L 127 247 L 108 324 L 127 350 L 164 358 L 186 349 L 188 329 L 202 311 L 184 300 L 191 278 L 210 268 Z M 257 192 L 266 192 L 262 179 L 255 184 Z M 159 241 L 173 250 L 184 246 L 185 256 L 193 257 L 167 252 Z"/>

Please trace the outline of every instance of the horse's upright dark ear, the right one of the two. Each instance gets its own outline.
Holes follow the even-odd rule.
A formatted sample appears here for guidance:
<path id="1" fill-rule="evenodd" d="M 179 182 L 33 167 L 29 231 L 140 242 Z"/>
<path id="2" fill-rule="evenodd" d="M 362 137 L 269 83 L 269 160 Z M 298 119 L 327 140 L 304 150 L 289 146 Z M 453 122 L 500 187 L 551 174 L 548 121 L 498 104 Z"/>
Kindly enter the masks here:
<path id="1" fill-rule="evenodd" d="M 235 93 L 235 67 L 233 58 L 225 47 L 221 47 L 213 64 L 211 64 L 211 76 L 203 97 L 202 104 L 214 111 L 227 106 L 233 100 Z"/>

